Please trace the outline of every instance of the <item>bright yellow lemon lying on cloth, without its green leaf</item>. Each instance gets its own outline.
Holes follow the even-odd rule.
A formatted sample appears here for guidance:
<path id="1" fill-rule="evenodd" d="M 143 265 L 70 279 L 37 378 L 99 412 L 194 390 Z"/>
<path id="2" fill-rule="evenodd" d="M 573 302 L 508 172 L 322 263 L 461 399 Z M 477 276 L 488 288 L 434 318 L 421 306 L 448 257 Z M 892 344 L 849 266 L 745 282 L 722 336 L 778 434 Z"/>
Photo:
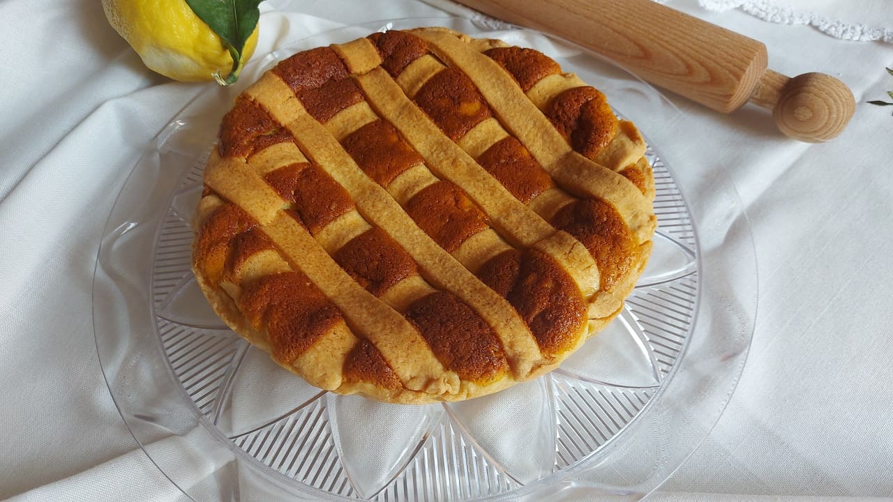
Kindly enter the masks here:
<path id="1" fill-rule="evenodd" d="M 181 82 L 212 80 L 216 74 L 221 83 L 232 71 L 229 49 L 185 0 L 102 2 L 109 23 L 150 70 Z M 257 27 L 245 43 L 243 62 L 256 45 Z"/>

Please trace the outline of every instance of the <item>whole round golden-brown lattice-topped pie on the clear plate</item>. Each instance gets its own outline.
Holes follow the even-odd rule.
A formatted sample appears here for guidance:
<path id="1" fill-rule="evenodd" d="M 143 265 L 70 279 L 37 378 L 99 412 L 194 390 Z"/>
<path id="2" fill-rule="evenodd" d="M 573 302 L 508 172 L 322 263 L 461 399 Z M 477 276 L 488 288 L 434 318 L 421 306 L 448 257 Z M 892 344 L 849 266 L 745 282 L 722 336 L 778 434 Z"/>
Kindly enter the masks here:
<path id="1" fill-rule="evenodd" d="M 655 230 L 645 142 L 538 51 L 448 29 L 295 54 L 236 98 L 193 270 L 321 389 L 478 397 L 620 312 Z"/>

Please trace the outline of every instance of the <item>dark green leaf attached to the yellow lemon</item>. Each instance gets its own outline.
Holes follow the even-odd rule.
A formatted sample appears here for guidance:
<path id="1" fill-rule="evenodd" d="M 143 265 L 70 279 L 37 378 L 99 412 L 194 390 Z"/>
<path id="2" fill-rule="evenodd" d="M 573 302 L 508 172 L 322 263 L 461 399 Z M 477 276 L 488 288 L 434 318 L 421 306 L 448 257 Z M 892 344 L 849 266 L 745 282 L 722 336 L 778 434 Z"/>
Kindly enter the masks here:
<path id="1" fill-rule="evenodd" d="M 214 79 L 224 86 L 232 85 L 238 79 L 245 61 L 242 52 L 245 42 L 255 31 L 261 12 L 257 5 L 263 0 L 186 0 L 192 12 L 204 21 L 214 33 L 220 36 L 232 56 L 232 70 L 223 78 L 214 74 Z"/>

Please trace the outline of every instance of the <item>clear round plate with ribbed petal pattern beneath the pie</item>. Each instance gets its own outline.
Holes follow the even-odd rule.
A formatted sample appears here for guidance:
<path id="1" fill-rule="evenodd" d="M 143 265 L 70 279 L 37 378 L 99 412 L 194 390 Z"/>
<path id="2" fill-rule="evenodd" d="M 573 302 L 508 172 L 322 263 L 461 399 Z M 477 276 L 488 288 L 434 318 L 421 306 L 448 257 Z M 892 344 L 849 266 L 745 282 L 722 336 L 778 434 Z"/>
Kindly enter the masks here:
<path id="1" fill-rule="evenodd" d="M 427 25 L 538 48 L 604 91 L 652 145 L 659 225 L 622 314 L 560 369 L 462 403 L 388 405 L 310 387 L 230 331 L 196 287 L 188 222 L 219 121 L 263 71 L 314 46 Z M 718 420 L 756 305 L 753 244 L 734 188 L 684 157 L 670 169 L 661 146 L 690 132 L 654 88 L 559 39 L 499 28 L 440 18 L 306 38 L 246 66 L 234 88 L 209 86 L 138 160 L 96 259 L 96 347 L 124 422 L 188 497 L 637 499 Z"/>

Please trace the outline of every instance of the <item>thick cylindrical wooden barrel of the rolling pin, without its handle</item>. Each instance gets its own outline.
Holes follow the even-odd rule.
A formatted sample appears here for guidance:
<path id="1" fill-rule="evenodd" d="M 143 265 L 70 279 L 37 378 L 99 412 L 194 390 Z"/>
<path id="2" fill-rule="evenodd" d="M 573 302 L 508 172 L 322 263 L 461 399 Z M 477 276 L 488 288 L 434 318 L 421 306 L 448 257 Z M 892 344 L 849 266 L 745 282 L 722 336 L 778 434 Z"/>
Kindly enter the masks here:
<path id="1" fill-rule="evenodd" d="M 605 54 L 656 86 L 722 113 L 747 103 L 766 70 L 762 43 L 652 0 L 460 2 Z"/>

